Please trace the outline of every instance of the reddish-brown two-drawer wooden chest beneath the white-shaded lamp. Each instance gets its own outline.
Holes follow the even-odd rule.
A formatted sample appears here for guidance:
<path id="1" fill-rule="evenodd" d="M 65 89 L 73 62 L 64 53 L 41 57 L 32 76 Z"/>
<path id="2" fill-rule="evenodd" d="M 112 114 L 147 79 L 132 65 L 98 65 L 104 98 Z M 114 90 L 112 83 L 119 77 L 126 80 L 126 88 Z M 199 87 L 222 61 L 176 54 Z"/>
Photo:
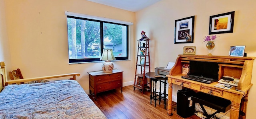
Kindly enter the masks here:
<path id="1" fill-rule="evenodd" d="M 123 87 L 123 71 L 114 69 L 113 72 L 105 73 L 101 71 L 88 72 L 90 95 L 96 99 L 100 92 Z"/>

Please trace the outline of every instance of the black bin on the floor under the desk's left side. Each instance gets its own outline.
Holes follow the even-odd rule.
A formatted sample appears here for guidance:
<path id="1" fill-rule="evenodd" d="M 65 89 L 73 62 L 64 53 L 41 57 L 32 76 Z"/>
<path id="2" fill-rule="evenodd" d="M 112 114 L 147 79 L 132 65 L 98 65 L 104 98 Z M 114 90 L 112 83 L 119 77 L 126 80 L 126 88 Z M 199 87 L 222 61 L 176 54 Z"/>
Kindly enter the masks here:
<path id="1" fill-rule="evenodd" d="M 196 94 L 191 89 L 178 90 L 177 93 L 177 114 L 183 118 L 194 115 L 195 103 L 191 100 L 191 96 Z"/>

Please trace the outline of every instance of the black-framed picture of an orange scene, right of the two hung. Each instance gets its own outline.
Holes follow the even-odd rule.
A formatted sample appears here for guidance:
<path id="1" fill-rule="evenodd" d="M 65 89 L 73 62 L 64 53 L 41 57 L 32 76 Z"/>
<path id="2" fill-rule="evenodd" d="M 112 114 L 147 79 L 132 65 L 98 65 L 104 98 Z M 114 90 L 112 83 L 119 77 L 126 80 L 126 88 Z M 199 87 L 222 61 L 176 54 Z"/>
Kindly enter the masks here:
<path id="1" fill-rule="evenodd" d="M 210 16 L 209 34 L 233 33 L 235 11 Z"/>

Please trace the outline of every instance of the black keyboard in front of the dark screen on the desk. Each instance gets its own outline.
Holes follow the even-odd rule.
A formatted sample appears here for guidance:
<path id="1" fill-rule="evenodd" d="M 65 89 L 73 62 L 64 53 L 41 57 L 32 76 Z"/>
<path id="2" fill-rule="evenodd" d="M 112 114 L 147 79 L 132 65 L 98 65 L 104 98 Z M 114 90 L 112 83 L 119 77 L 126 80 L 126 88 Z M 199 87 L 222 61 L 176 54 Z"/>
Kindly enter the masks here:
<path id="1" fill-rule="evenodd" d="M 212 78 L 206 78 L 206 77 L 201 77 L 201 76 L 194 76 L 194 75 L 186 75 L 186 76 L 181 76 L 181 78 L 189 79 L 189 80 L 194 80 L 198 82 L 203 82 L 206 84 L 210 84 L 212 82 L 216 82 L 216 80 Z"/>

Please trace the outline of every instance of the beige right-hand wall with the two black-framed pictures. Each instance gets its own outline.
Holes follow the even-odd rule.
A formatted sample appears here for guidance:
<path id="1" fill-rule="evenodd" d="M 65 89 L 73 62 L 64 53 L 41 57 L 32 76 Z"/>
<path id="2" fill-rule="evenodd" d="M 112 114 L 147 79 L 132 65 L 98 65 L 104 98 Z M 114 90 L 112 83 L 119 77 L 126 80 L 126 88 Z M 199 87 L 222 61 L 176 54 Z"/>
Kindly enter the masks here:
<path id="1" fill-rule="evenodd" d="M 150 60 L 152 70 L 175 62 L 182 54 L 184 46 L 196 46 L 196 55 L 207 55 L 203 37 L 209 32 L 209 17 L 235 11 L 234 32 L 217 34 L 213 55 L 227 56 L 231 45 L 246 45 L 247 56 L 256 57 L 256 1 L 255 0 L 161 0 L 160 2 L 136 12 L 136 37 L 144 30 L 151 39 Z M 194 43 L 174 44 L 175 20 L 195 16 Z M 252 74 L 252 83 L 256 84 L 256 62 Z M 179 86 L 174 86 L 176 96 Z M 254 119 L 256 110 L 256 87 L 250 89 L 247 105 L 247 118 Z"/>

